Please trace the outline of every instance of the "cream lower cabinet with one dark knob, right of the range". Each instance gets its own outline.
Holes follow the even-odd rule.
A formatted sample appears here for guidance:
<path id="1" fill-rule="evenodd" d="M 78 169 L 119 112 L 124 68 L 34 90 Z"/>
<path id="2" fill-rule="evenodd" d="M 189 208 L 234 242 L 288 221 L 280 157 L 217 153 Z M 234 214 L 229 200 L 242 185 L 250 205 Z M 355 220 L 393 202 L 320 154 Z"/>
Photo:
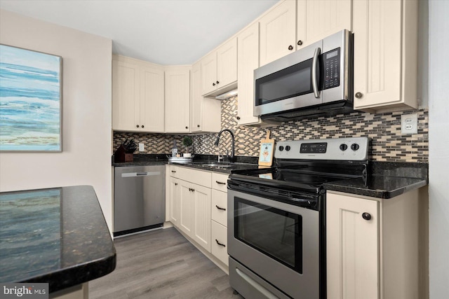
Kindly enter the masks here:
<path id="1" fill-rule="evenodd" d="M 419 296 L 418 190 L 391 199 L 328 191 L 327 298 Z"/>

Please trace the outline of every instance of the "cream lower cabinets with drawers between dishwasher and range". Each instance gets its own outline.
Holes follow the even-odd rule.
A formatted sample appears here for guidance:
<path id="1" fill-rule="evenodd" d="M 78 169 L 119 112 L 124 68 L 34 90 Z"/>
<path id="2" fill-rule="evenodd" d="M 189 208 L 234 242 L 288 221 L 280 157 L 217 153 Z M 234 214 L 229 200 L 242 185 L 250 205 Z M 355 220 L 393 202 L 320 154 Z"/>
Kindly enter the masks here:
<path id="1" fill-rule="evenodd" d="M 167 165 L 168 219 L 227 272 L 227 174 Z"/>

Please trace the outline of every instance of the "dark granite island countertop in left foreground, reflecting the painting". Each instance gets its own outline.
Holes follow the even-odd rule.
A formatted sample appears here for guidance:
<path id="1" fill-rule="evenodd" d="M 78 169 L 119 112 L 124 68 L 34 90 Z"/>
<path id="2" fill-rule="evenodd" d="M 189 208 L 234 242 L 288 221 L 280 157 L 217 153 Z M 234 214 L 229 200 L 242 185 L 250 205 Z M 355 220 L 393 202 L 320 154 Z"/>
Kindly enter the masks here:
<path id="1" fill-rule="evenodd" d="M 92 186 L 0 193 L 0 219 L 0 282 L 46 282 L 52 293 L 115 269 Z"/>

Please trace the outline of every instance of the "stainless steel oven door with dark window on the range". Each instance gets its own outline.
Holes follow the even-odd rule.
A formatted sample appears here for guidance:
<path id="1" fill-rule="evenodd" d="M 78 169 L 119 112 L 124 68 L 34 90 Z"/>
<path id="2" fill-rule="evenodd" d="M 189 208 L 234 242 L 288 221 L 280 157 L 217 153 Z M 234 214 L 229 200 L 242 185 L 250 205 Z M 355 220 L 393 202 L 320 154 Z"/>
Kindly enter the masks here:
<path id="1" fill-rule="evenodd" d="M 290 297 L 319 298 L 319 218 L 319 211 L 228 190 L 229 256 Z"/>

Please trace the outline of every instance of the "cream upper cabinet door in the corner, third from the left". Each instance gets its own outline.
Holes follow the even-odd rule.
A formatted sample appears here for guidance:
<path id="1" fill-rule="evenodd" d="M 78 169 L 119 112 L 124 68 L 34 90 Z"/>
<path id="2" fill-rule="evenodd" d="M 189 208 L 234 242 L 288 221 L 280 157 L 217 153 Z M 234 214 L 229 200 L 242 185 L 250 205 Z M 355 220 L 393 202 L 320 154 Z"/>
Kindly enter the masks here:
<path id="1" fill-rule="evenodd" d="M 189 132 L 190 68 L 166 69 L 166 132 Z"/>

